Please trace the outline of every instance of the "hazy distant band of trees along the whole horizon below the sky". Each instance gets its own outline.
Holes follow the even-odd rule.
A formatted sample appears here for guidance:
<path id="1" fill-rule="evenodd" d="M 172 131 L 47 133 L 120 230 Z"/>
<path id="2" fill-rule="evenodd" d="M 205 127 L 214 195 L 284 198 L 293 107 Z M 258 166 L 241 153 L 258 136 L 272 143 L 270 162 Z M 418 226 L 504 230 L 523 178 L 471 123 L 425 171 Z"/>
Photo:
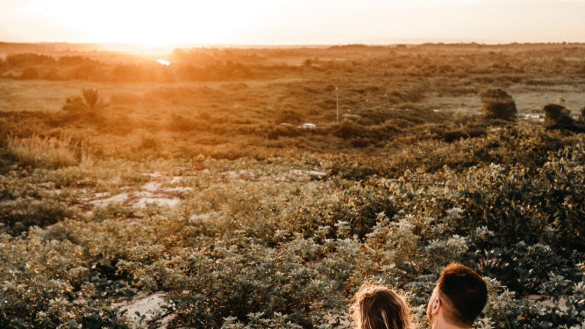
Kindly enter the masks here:
<path id="1" fill-rule="evenodd" d="M 90 54 L 88 54 L 90 56 Z M 349 44 L 323 49 L 176 49 L 165 57 L 11 54 L 0 77 L 104 82 L 242 81 L 367 73 L 411 82 L 448 78 L 491 84 L 571 84 L 585 78 L 583 44 Z M 469 85 L 469 84 L 466 84 Z M 464 91 L 464 88 L 460 90 Z M 476 91 L 474 91 L 476 92 Z"/>

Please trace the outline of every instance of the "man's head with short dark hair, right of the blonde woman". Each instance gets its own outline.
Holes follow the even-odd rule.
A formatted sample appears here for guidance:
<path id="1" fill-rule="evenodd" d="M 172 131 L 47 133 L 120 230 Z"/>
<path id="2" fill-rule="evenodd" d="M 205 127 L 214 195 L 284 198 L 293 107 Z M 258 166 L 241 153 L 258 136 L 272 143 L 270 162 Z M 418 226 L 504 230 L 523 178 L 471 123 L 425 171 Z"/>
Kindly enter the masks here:
<path id="1" fill-rule="evenodd" d="M 460 328 L 470 328 L 486 306 L 486 282 L 474 270 L 450 264 L 441 273 L 427 309 L 429 320 L 436 317 Z"/>

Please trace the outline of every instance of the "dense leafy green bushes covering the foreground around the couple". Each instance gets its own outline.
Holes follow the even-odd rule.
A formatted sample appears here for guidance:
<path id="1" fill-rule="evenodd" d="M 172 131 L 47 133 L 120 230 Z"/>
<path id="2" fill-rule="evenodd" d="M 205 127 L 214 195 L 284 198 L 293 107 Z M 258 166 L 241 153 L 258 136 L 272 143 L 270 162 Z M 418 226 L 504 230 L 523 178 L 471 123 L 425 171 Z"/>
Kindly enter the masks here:
<path id="1" fill-rule="evenodd" d="M 518 145 L 510 144 L 543 140 L 539 134 L 548 142 L 535 145 L 538 149 L 531 152 L 536 153 L 517 153 Z M 524 140 L 508 139 L 513 135 Z M 105 213 L 83 214 L 71 208 L 80 204 L 77 190 L 51 196 L 31 185 L 53 184 L 47 185 L 49 190 L 57 182 L 61 189 L 74 186 L 79 181 L 57 177 L 74 177 L 75 170 L 82 170 L 92 174 L 80 179 L 95 177 L 91 184 L 97 187 L 108 173 L 98 168 L 113 164 L 74 166 L 62 173 L 33 169 L 26 174 L 28 181 L 3 176 L 2 199 L 14 201 L 2 214 L 11 235 L 2 242 L 1 298 L 9 303 L 2 304 L 0 323 L 122 325 L 126 320 L 113 310 L 113 301 L 136 290 L 160 290 L 172 306 L 167 311 L 190 327 L 278 327 L 279 321 L 328 327 L 345 315 L 346 300 L 356 287 L 374 280 L 411 292 L 416 319 L 424 326 L 424 304 L 437 273 L 455 260 L 491 278 L 484 325 L 577 325 L 585 320 L 579 315 L 585 310 L 580 303 L 585 140 L 528 127 L 510 127 L 488 138 L 500 146 L 484 161 L 460 162 L 450 151 L 445 160 L 459 169 L 445 166 L 426 173 L 391 170 L 393 163 L 418 163 L 414 153 L 386 159 L 365 176 L 350 169 L 352 161 L 312 155 L 298 160 L 157 160 L 146 164 L 151 169 L 118 163 L 129 173 L 212 169 L 182 183 L 198 192 L 180 207 L 153 209 L 131 222 L 121 218 L 136 210 L 114 206 Z M 477 151 L 478 143 L 486 142 L 443 142 L 435 152 L 444 147 Z M 535 155 L 543 162 L 535 163 Z M 322 170 L 327 176 L 274 180 L 288 177 L 291 167 Z M 253 178 L 223 181 L 225 170 L 244 170 Z M 34 220 L 31 207 L 47 220 Z M 49 226 L 27 230 L 30 225 Z M 35 258 L 15 261 L 22 255 Z M 533 295 L 560 304 L 529 301 Z"/>

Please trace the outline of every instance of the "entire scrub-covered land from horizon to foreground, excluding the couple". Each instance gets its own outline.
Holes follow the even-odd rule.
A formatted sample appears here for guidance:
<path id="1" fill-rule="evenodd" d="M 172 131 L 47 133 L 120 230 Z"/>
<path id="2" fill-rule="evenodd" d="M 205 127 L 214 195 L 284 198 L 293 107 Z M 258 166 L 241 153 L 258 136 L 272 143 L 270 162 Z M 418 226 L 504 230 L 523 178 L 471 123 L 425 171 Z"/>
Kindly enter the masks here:
<path id="1" fill-rule="evenodd" d="M 581 328 L 582 44 L 157 57 L 0 60 L 0 327 L 349 327 L 379 282 L 428 328 L 457 261 L 476 328 Z"/>

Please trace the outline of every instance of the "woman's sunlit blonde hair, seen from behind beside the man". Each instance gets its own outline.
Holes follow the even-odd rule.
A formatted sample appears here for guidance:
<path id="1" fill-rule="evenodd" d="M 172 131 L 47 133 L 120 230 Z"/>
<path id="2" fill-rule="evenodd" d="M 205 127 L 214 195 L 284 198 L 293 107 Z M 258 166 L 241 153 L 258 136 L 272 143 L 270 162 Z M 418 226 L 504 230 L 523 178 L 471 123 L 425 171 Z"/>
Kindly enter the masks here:
<path id="1" fill-rule="evenodd" d="M 384 286 L 363 285 L 350 311 L 358 329 L 412 329 L 410 307 L 404 296 Z"/>

